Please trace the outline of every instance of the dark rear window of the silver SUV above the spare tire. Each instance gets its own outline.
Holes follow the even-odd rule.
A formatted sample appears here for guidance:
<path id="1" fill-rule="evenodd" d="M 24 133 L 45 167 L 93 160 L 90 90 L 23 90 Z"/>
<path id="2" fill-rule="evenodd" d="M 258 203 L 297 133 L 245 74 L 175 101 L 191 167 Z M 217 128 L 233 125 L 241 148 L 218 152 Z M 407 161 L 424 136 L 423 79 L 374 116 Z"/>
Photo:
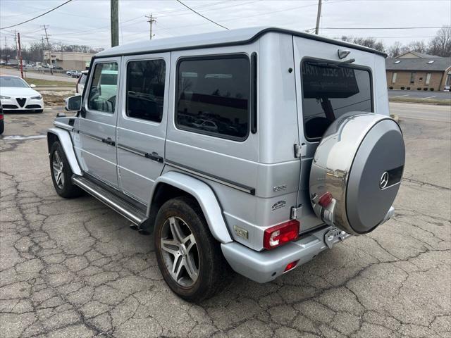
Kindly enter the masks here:
<path id="1" fill-rule="evenodd" d="M 369 70 L 349 64 L 302 62 L 304 133 L 316 141 L 330 123 L 351 111 L 373 111 Z"/>

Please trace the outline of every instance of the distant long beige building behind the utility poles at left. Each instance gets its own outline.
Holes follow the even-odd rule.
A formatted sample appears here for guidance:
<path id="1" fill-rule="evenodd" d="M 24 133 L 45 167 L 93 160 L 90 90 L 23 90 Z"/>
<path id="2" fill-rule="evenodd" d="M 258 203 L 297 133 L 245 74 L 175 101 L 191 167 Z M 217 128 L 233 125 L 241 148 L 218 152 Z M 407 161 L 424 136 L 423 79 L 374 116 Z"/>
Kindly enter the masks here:
<path id="1" fill-rule="evenodd" d="M 75 51 L 44 51 L 44 63 L 65 70 L 86 70 L 94 54 Z"/>

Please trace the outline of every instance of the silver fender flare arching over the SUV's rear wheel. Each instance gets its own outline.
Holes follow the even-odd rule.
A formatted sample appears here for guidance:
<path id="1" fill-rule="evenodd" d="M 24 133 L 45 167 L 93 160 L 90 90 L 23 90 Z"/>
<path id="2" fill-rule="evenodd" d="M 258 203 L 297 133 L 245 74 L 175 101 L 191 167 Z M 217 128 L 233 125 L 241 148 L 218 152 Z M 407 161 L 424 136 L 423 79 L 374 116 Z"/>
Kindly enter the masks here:
<path id="1" fill-rule="evenodd" d="M 213 190 L 206 183 L 201 180 L 197 180 L 195 177 L 190 175 L 185 175 L 176 171 L 169 171 L 155 180 L 150 195 L 150 205 L 152 205 L 152 201 L 154 199 L 154 192 L 161 183 L 172 185 L 173 187 L 181 189 L 184 192 L 194 196 L 197 203 L 199 203 L 199 206 L 202 208 L 206 223 L 209 225 L 209 229 L 211 234 L 213 234 L 213 237 L 221 243 L 233 242 L 228 232 L 226 222 L 224 221 L 218 199 L 216 199 Z"/>

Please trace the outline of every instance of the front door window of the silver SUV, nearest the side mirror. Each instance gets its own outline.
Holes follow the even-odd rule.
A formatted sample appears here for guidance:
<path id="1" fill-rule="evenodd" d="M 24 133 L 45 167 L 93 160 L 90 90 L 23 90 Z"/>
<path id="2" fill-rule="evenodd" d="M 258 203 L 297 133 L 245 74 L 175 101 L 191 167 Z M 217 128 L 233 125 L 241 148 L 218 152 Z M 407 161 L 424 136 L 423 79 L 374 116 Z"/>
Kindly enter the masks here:
<path id="1" fill-rule="evenodd" d="M 118 91 L 118 64 L 97 63 L 92 75 L 87 106 L 94 111 L 114 113 Z"/>

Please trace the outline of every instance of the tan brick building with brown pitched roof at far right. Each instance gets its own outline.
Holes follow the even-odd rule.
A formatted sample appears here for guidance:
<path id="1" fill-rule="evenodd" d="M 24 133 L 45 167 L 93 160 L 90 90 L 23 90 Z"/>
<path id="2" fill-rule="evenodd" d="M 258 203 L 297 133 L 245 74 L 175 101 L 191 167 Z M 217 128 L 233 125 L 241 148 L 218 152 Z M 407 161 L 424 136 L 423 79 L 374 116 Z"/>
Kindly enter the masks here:
<path id="1" fill-rule="evenodd" d="M 451 84 L 451 58 L 409 51 L 385 59 L 389 89 L 440 91 Z"/>

